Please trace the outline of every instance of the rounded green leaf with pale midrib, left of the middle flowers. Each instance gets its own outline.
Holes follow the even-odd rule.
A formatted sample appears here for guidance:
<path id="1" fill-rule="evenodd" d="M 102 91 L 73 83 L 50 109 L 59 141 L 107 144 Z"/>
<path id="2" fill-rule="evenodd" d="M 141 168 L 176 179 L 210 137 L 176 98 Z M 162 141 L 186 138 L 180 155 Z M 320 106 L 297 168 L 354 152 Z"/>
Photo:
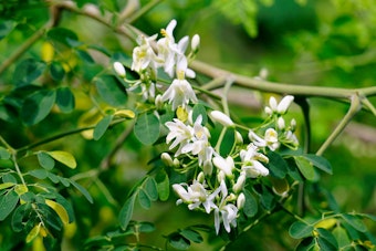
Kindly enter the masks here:
<path id="1" fill-rule="evenodd" d="M 144 145 L 152 145 L 159 137 L 159 119 L 153 113 L 138 116 L 134 127 L 137 139 Z"/>

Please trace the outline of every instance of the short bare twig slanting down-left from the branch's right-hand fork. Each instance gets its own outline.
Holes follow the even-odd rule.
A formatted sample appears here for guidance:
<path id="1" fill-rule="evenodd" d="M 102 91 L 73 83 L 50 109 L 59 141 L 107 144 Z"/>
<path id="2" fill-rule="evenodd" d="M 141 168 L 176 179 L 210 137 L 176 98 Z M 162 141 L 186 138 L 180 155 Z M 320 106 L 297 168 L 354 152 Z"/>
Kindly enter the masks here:
<path id="1" fill-rule="evenodd" d="M 326 150 L 326 148 L 330 145 L 332 145 L 332 143 L 343 132 L 343 129 L 347 126 L 347 124 L 351 122 L 353 116 L 359 111 L 361 107 L 362 107 L 362 104 L 361 104 L 361 98 L 358 94 L 353 95 L 351 98 L 351 106 L 346 115 L 341 121 L 341 123 L 337 125 L 337 127 L 333 130 L 333 133 L 326 138 L 324 144 L 320 147 L 320 149 L 316 151 L 316 155 L 321 156 Z"/>

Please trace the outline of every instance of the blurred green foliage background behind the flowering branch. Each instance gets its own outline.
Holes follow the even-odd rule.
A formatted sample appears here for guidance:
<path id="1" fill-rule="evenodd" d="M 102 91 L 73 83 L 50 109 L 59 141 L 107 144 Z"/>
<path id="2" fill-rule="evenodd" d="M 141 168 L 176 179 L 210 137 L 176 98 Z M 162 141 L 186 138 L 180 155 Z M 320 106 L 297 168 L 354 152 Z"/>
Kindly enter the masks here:
<path id="1" fill-rule="evenodd" d="M 149 2 L 139 1 L 139 4 Z M 106 17 L 106 13 L 119 12 L 127 1 L 81 0 L 76 3 L 82 8 L 93 4 L 92 7 Z M 0 1 L 0 19 L 14 21 L 9 24 L 13 27 L 11 33 L 0 40 L 0 62 L 46 22 L 49 10 L 45 6 L 43 1 L 32 0 Z M 345 88 L 375 86 L 376 4 L 373 1 L 166 0 L 137 19 L 133 25 L 152 35 L 158 33 L 171 19 L 178 21 L 176 38 L 196 33 L 200 35 L 197 60 L 218 67 L 248 76 L 258 76 L 261 71 L 267 70 L 267 80 L 296 84 L 296 88 L 299 85 Z M 91 50 L 90 45 L 100 45 L 112 54 L 130 54 L 135 45 L 129 39 L 116 34 L 100 22 L 69 11 L 62 13 L 59 25 L 73 30 L 80 41 L 87 45 L 87 51 L 96 63 L 72 63 L 74 70 L 70 72 L 67 82 L 77 86 L 76 111 L 73 114 L 52 114 L 36 126 L 24 127 L 19 122 L 8 122 L 4 117 L 7 115 L 0 111 L 1 135 L 15 147 L 77 127 L 77 121 L 83 111 L 88 108 L 90 102 L 81 95 L 81 87 L 87 83 L 77 83 L 75 74 L 83 74 L 83 80 L 88 81 L 93 74 L 109 65 L 108 59 Z M 40 40 L 22 57 L 43 57 L 43 40 Z M 63 49 L 60 53 L 60 56 L 65 56 Z M 12 88 L 10 80 L 14 69 L 15 65 L 12 65 L 0 76 L 2 97 Z M 262 114 L 261 107 L 270 95 L 271 93 L 251 90 L 241 93 L 234 90 L 230 95 L 230 101 L 233 102 L 230 108 L 243 117 L 257 118 Z M 344 116 L 348 105 L 316 97 L 310 98 L 309 102 L 312 119 L 311 149 L 314 153 Z M 370 102 L 376 104 L 376 97 L 372 97 Z M 299 125 L 304 123 L 297 105 L 292 107 L 292 116 L 297 118 Z M 125 128 L 126 125 L 114 127 L 98 142 L 85 140 L 80 135 L 74 135 L 48 147 L 70 150 L 79 160 L 79 170 L 90 170 L 101 165 L 109 153 L 111 145 Z M 148 161 L 156 156 L 155 150 L 140 146 L 133 136 L 127 139 L 127 144 L 116 153 L 108 170 L 101 174 L 102 185 L 93 185 L 90 188 L 98 202 L 90 206 L 79 198 L 75 201 L 80 206 L 75 207 L 75 210 L 85 217 L 77 219 L 75 228 L 79 230 L 73 228 L 72 231 L 81 233 L 65 242 L 66 249 L 75 248 L 70 245 L 80 243 L 87 234 L 101 234 L 117 224 L 118 207 L 125 201 L 130 187 L 149 169 Z M 343 211 L 376 213 L 376 117 L 369 112 L 359 112 L 335 144 L 324 153 L 324 157 L 331 161 L 334 174 L 323 175 L 322 185 L 333 192 Z M 33 164 L 24 165 L 28 167 Z M 112 197 L 103 192 L 101 186 L 105 186 Z M 142 208 L 135 210 L 134 219 L 155 222 L 157 229 L 163 226 L 166 231 L 157 232 L 153 237 L 155 240 L 147 241 L 163 245 L 160 243 L 164 239 L 160 234 L 166 236 L 168 231 L 181 227 L 181 219 L 189 219 L 189 224 L 202 221 L 210 224 L 212 219 L 207 219 L 201 213 L 195 213 L 192 217 L 192 212 L 185 207 L 175 207 L 175 199 L 173 196 L 167 203 L 154 203 L 149 211 Z M 166 211 L 169 213 L 166 215 Z M 268 222 L 275 222 L 278 217 L 273 216 Z M 1 222 L 0 228 L 3 228 L 4 223 Z M 293 241 L 289 240 L 288 236 L 278 236 L 281 232 L 288 234 L 283 231 L 288 226 L 284 222 L 279 226 L 281 229 L 268 224 L 260 226 L 243 234 L 230 249 L 289 250 Z M 376 233 L 376 227 L 369 227 Z M 260 236 L 264 238 L 262 243 Z M 207 248 L 217 244 L 221 243 Z M 197 250 L 202 250 L 202 245 Z"/>

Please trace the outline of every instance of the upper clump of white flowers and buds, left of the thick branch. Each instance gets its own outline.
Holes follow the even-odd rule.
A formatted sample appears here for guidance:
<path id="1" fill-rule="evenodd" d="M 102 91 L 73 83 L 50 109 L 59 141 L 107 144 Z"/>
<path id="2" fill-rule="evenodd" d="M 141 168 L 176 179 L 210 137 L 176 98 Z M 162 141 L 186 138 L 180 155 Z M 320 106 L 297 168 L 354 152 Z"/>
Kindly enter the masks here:
<path id="1" fill-rule="evenodd" d="M 188 62 L 198 52 L 200 42 L 199 36 L 194 35 L 190 53 L 186 55 L 189 38 L 184 36 L 175 42 L 173 32 L 176 24 L 176 20 L 171 20 L 166 29 L 161 29 L 163 38 L 159 40 L 157 40 L 157 34 L 149 38 L 140 35 L 137 39 L 138 46 L 133 50 L 130 70 L 139 74 L 139 80 L 126 80 L 124 66 L 119 62 L 113 65 L 115 72 L 130 84 L 128 91 L 140 90 L 144 101 L 168 102 L 174 111 L 179 106 L 186 107 L 190 102 L 197 103 L 196 94 L 187 77 L 196 77 L 196 73 L 188 67 Z M 159 69 L 174 79 L 166 92 L 156 84 Z"/>

